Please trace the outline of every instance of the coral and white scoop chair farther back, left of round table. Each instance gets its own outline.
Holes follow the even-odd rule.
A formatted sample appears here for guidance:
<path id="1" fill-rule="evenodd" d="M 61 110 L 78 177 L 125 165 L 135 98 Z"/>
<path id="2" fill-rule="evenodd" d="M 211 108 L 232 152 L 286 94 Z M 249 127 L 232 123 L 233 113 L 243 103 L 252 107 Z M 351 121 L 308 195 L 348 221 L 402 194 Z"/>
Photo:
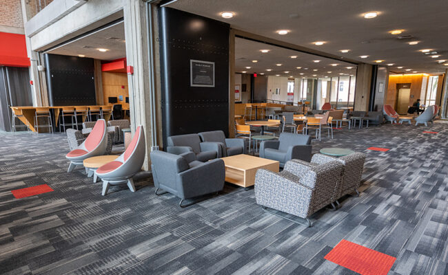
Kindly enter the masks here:
<path id="1" fill-rule="evenodd" d="M 68 172 L 76 166 L 82 166 L 83 160 L 97 155 L 104 155 L 108 146 L 108 133 L 105 120 L 98 120 L 85 141 L 65 157 L 70 160 Z"/>

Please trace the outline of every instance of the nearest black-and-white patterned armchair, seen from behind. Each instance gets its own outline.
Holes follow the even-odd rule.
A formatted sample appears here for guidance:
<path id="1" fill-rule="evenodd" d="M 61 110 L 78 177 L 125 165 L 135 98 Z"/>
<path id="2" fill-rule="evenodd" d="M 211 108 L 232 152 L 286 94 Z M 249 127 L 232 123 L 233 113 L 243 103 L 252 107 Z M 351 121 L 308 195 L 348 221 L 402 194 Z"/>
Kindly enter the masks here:
<path id="1" fill-rule="evenodd" d="M 258 169 L 256 203 L 265 210 L 272 208 L 306 219 L 311 226 L 308 217 L 334 201 L 342 170 L 343 164 L 336 160 L 318 165 L 300 159 L 286 162 L 280 173 Z"/>

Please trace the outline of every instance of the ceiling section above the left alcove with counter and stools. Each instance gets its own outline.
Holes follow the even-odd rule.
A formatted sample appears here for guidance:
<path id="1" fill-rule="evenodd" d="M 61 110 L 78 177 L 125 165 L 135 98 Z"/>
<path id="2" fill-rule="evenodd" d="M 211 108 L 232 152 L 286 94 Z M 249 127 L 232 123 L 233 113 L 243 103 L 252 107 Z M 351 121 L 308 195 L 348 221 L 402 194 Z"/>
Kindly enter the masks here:
<path id="1" fill-rule="evenodd" d="M 126 57 L 126 43 L 124 23 L 112 25 L 109 28 L 90 34 L 76 41 L 58 47 L 48 52 L 49 54 L 62 54 L 65 56 L 78 56 L 95 58 L 103 61 L 112 61 Z M 97 49 L 107 49 L 107 52 L 99 52 Z"/>

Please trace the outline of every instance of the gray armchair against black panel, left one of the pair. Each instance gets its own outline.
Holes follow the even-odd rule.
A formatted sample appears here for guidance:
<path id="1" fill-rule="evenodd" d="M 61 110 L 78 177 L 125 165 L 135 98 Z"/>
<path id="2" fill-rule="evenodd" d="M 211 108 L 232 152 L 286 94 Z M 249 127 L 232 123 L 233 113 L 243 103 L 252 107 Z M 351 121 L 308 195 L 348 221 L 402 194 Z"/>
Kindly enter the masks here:
<path id="1" fill-rule="evenodd" d="M 173 135 L 168 137 L 167 152 L 175 155 L 194 152 L 199 162 L 207 162 L 218 157 L 221 145 L 216 142 L 201 142 L 197 133 L 187 135 Z"/>

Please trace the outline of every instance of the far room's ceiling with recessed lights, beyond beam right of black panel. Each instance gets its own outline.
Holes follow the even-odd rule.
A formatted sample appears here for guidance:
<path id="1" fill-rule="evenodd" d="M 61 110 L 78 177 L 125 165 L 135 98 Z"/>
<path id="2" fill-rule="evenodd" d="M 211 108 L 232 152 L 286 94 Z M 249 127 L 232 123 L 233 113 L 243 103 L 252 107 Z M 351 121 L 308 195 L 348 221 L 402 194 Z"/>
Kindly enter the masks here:
<path id="1" fill-rule="evenodd" d="M 264 54 L 260 50 L 269 50 L 269 52 Z M 297 58 L 291 58 L 290 56 L 297 56 Z M 257 62 L 253 63 L 252 61 Z M 314 61 L 320 62 L 315 63 Z M 276 64 L 282 65 L 277 66 Z M 336 64 L 336 66 L 330 64 Z M 250 67 L 250 69 L 246 67 Z M 301 67 L 301 69 L 297 69 L 297 67 Z M 347 69 L 347 67 L 352 67 L 352 69 Z M 266 69 L 272 69 L 272 71 L 268 72 Z M 314 71 L 315 69 L 317 71 Z M 279 74 L 281 76 L 293 76 L 294 78 L 323 78 L 355 75 L 356 65 L 288 50 L 283 47 L 236 38 L 235 71 L 250 74 L 262 73 L 271 76 Z"/>

